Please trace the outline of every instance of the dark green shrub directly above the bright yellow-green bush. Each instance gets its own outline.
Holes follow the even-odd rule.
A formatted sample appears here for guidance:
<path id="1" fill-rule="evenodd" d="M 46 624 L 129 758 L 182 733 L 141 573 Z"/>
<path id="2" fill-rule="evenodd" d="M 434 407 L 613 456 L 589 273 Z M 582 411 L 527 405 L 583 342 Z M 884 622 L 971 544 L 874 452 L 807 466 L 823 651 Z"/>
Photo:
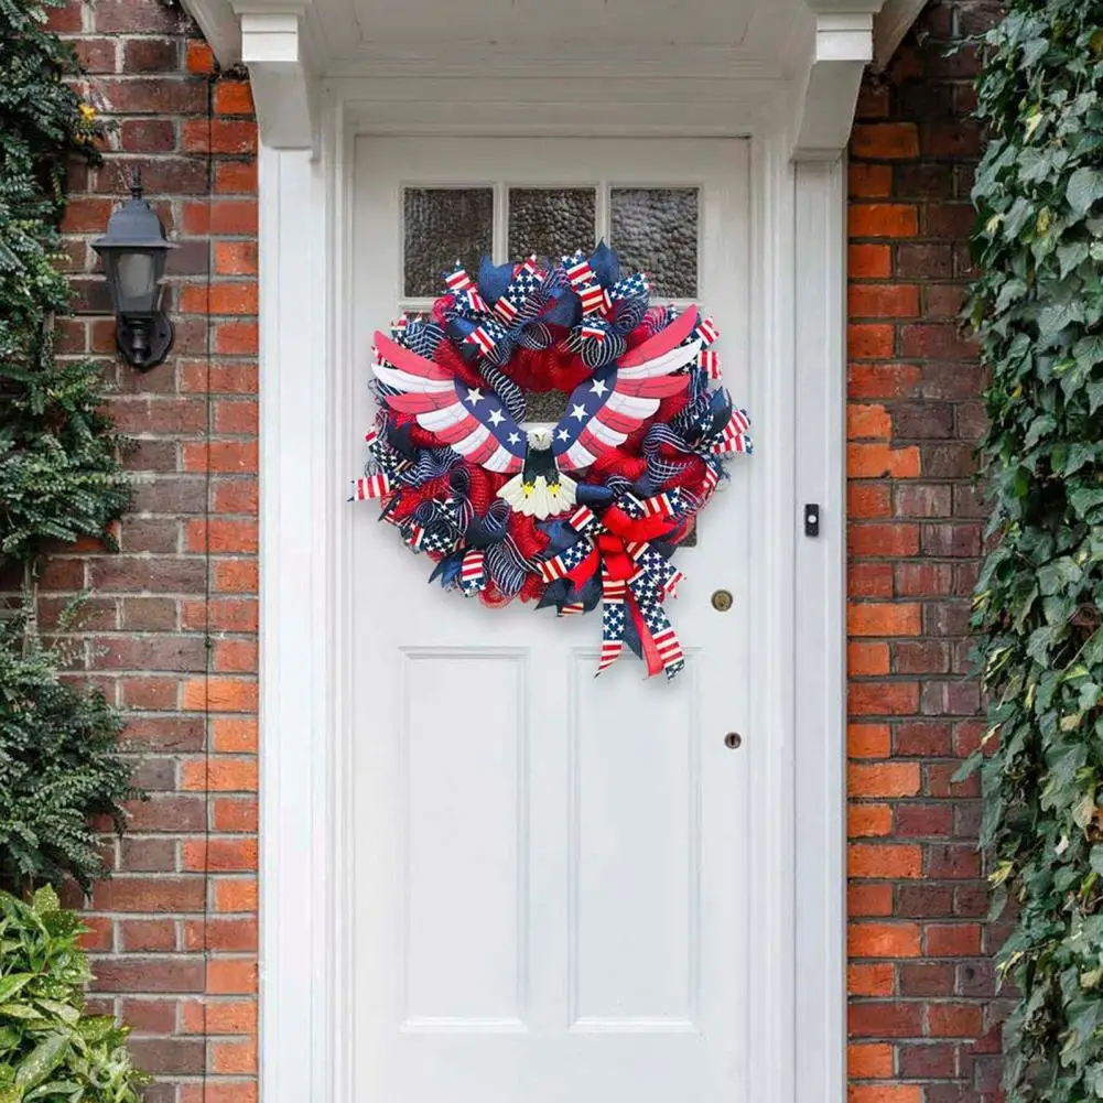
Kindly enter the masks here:
<path id="1" fill-rule="evenodd" d="M 124 722 L 103 694 L 62 682 L 64 656 L 23 628 L 0 624 L 0 882 L 67 875 L 88 891 L 106 872 L 89 817 L 121 833 L 121 802 L 141 795 L 118 753 Z"/>

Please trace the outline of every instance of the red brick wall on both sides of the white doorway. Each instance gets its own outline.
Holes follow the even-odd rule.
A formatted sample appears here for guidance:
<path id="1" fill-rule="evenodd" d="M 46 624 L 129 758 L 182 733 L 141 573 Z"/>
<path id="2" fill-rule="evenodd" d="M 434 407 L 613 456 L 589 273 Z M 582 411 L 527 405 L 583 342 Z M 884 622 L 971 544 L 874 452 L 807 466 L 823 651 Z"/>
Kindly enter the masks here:
<path id="1" fill-rule="evenodd" d="M 971 473 L 983 379 L 954 313 L 967 276 L 984 0 L 928 8 L 867 79 L 850 150 L 852 1103 L 978 1103 L 998 1040 L 964 639 L 981 545 Z M 55 26 L 109 125 L 66 229 L 82 313 L 65 351 L 109 357 L 88 240 L 141 163 L 180 248 L 170 362 L 110 367 L 139 447 L 118 556 L 58 556 L 47 603 L 95 590 L 95 676 L 133 710 L 151 803 L 97 889 L 100 998 L 135 1026 L 165 1103 L 249 1103 L 256 989 L 256 179 L 246 83 L 216 76 L 180 9 L 69 0 Z"/>

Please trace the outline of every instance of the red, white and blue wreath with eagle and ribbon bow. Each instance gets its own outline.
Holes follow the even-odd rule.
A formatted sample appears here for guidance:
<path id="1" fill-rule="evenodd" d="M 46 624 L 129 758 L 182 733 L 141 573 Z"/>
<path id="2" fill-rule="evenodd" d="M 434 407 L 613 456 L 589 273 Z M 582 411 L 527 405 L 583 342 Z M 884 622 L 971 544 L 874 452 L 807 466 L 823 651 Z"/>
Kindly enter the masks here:
<path id="1" fill-rule="evenodd" d="M 529 257 L 478 281 L 459 266 L 428 315 L 376 332 L 379 414 L 353 488 L 436 564 L 429 581 L 496 607 L 602 606 L 598 673 L 623 645 L 649 676 L 685 665 L 663 601 L 674 548 L 751 451 L 696 307 L 650 306 L 606 245 Z M 558 424 L 525 420 L 526 392 L 563 392 Z M 570 474 L 568 474 L 570 472 Z"/>

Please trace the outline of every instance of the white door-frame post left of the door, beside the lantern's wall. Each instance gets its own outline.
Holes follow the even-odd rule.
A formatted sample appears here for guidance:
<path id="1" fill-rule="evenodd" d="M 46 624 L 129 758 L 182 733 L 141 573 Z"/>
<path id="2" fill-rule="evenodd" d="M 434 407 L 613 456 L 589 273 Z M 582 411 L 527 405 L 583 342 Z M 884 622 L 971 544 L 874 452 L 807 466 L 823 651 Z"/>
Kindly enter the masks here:
<path id="1" fill-rule="evenodd" d="M 340 496 L 329 324 L 335 163 L 261 146 L 260 1074 L 266 1100 L 333 1100 L 340 918 L 331 820 Z M 295 585 L 289 580 L 295 579 Z"/>

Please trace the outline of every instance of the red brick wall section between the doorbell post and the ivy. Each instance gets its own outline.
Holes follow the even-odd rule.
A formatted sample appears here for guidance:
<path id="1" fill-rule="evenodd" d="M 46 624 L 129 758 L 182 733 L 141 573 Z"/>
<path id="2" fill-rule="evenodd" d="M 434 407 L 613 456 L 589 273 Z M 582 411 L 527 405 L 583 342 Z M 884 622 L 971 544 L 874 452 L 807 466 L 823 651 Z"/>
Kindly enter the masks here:
<path id="1" fill-rule="evenodd" d="M 852 1103 L 998 1089 L 968 677 L 984 378 L 955 314 L 979 151 L 973 49 L 994 15 L 949 0 L 865 82 L 850 142 L 849 1070 Z"/>

